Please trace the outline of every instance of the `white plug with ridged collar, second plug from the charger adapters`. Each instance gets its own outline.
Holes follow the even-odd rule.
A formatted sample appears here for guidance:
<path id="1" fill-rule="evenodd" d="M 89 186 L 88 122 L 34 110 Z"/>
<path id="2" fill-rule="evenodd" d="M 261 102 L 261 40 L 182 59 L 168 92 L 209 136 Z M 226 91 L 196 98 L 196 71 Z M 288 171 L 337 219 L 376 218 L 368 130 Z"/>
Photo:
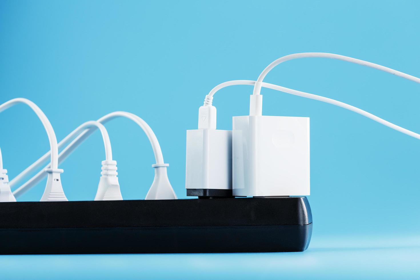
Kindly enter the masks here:
<path id="1" fill-rule="evenodd" d="M 117 162 L 115 160 L 102 161 L 101 175 L 95 200 L 123 200 L 117 177 Z"/>

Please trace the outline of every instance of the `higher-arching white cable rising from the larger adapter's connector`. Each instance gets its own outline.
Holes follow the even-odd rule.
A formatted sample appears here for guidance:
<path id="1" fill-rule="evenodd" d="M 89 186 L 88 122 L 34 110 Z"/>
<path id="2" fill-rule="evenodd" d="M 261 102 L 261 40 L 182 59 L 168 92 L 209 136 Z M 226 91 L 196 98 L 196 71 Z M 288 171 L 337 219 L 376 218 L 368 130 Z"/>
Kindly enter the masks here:
<path id="1" fill-rule="evenodd" d="M 350 58 L 348 56 L 344 56 L 344 55 L 336 55 L 333 53 L 328 53 L 328 52 L 302 52 L 302 53 L 294 53 L 291 55 L 286 55 L 283 56 L 281 58 L 278 58 L 276 60 L 274 60 L 272 63 L 270 63 L 260 74 L 260 76 L 258 76 L 257 82 L 262 82 L 262 80 L 265 78 L 265 76 L 268 74 L 268 72 L 271 71 L 271 69 L 273 69 L 274 67 L 276 67 L 277 65 L 279 65 L 280 63 L 283 63 L 287 60 L 292 60 L 292 59 L 297 59 L 297 58 L 332 58 L 332 59 L 338 59 L 338 60 L 344 60 L 347 62 L 351 62 L 351 63 L 356 63 L 356 64 L 360 64 L 363 66 L 367 66 L 367 67 L 371 67 L 371 68 L 375 68 L 387 73 L 391 73 L 393 75 L 402 77 L 404 79 L 410 80 L 410 81 L 415 81 L 416 83 L 420 84 L 420 79 L 415 77 L 415 76 L 411 76 L 408 75 L 406 73 L 402 73 L 400 71 L 396 71 L 394 69 L 382 66 L 382 65 L 378 65 L 375 63 L 371 63 L 365 60 L 360 60 L 360 59 L 356 59 L 356 58 Z M 261 86 L 259 85 L 259 83 L 255 84 L 254 86 L 254 92 L 253 94 L 260 94 L 260 90 L 261 90 Z"/>

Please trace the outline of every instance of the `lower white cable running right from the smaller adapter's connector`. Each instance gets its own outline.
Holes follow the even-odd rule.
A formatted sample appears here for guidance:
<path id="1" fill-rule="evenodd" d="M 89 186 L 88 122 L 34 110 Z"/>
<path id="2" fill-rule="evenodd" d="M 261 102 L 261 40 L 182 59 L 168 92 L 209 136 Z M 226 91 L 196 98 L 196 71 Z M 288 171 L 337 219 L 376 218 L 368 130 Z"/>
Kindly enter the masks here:
<path id="1" fill-rule="evenodd" d="M 210 92 L 210 93 L 215 94 L 215 92 L 217 92 L 219 89 L 222 89 L 226 86 L 234 86 L 234 85 L 251 85 L 251 86 L 253 86 L 253 85 L 255 85 L 256 82 L 257 81 L 250 81 L 250 80 L 227 81 L 227 82 L 224 82 L 224 83 L 216 86 L 214 89 L 212 89 L 212 92 Z M 413 131 L 409 131 L 408 129 L 402 128 L 401 126 L 397 126 L 393 123 L 388 122 L 387 120 L 381 119 L 381 118 L 379 118 L 379 117 L 377 117 L 377 116 L 375 116 L 371 113 L 368 113 L 368 112 L 366 112 L 362 109 L 359 109 L 357 107 L 354 107 L 352 105 L 349 105 L 349 104 L 346 104 L 346 103 L 343 103 L 343 102 L 340 102 L 340 101 L 337 101 L 337 100 L 334 100 L 334 99 L 331 99 L 331 98 L 322 97 L 322 96 L 315 95 L 315 94 L 310 94 L 310 93 L 307 93 L 307 92 L 300 92 L 300 91 L 295 90 L 295 89 L 289 89 L 289 88 L 286 88 L 286 87 L 283 87 L 283 86 L 278 86 L 278 85 L 275 85 L 275 84 L 269 84 L 269 83 L 262 82 L 261 86 L 269 88 L 269 89 L 275 89 L 275 90 L 278 90 L 280 92 L 286 92 L 286 93 L 289 93 L 289 94 L 293 94 L 293 95 L 297 95 L 297 96 L 301 96 L 301 97 L 306 97 L 306 98 L 310 98 L 310 99 L 315 99 L 315 100 L 322 101 L 322 102 L 325 102 L 325 103 L 330 103 L 332 105 L 336 105 L 336 106 L 342 107 L 344 109 L 347 109 L 347 110 L 353 111 L 355 113 L 358 113 L 360 115 L 363 115 L 363 116 L 365 116 L 367 118 L 370 118 L 370 119 L 372 119 L 372 120 L 374 120 L 378 123 L 383 124 L 384 126 L 388 126 L 389 128 L 395 129 L 396 131 L 399 131 L 399 132 L 402 132 L 402 133 L 407 134 L 409 136 L 412 136 L 414 138 L 420 139 L 420 134 L 415 133 Z M 210 95 L 210 93 L 208 95 Z"/>

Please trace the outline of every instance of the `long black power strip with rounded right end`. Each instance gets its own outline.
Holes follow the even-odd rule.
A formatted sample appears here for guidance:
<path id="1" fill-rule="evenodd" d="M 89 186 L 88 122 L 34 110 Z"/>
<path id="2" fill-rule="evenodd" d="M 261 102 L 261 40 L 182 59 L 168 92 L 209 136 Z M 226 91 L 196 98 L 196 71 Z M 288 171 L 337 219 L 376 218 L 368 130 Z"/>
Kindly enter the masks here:
<path id="1" fill-rule="evenodd" d="M 304 251 L 306 197 L 0 204 L 0 254 Z"/>

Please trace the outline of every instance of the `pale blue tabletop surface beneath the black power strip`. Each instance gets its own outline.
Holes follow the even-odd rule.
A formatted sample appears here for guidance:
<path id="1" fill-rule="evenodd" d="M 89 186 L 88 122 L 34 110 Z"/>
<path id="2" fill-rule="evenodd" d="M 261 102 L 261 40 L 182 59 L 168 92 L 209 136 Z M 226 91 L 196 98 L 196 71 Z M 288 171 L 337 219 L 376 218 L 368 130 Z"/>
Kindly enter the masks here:
<path id="1" fill-rule="evenodd" d="M 420 236 L 313 238 L 296 253 L 0 256 L 1 279 L 418 279 L 419 261 Z"/>

